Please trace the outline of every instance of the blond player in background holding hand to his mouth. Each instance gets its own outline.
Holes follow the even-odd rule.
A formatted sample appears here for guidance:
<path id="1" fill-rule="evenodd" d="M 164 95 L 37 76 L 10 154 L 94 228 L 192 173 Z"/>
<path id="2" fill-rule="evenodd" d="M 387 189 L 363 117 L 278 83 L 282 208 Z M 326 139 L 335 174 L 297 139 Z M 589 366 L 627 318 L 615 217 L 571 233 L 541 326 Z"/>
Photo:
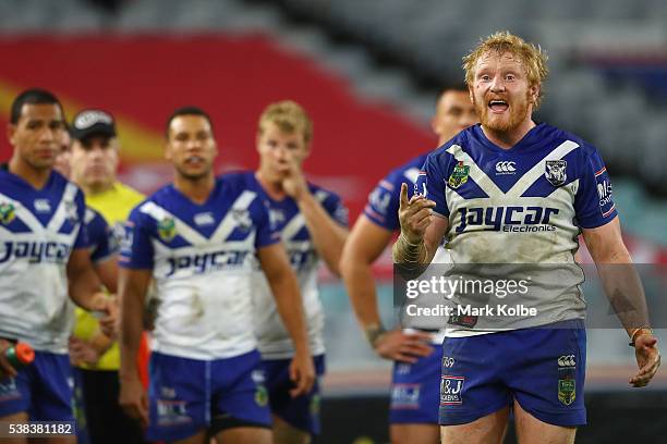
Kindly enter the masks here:
<path id="1" fill-rule="evenodd" d="M 339 274 L 338 262 L 348 235 L 348 211 L 340 198 L 306 181 L 302 165 L 311 155 L 313 123 L 291 100 L 269 104 L 262 113 L 256 136 L 259 166 L 246 174 L 267 199 L 269 214 L 280 231 L 303 297 L 313 361 L 318 377 L 325 371 L 324 312 L 317 270 L 322 261 Z M 266 384 L 274 414 L 276 443 L 307 443 L 319 433 L 319 384 L 293 396 L 288 367 L 294 348 L 270 289 L 258 275 L 253 291 L 255 331 L 267 371 Z"/>

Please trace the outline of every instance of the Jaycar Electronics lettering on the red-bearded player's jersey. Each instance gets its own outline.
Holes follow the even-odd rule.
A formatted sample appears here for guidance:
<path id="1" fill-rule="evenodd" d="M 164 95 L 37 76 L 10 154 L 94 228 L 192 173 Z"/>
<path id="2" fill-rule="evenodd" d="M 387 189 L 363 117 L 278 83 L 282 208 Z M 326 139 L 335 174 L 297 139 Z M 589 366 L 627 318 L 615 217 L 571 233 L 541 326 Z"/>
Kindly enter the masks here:
<path id="1" fill-rule="evenodd" d="M 477 207 L 461 208 L 461 223 L 456 227 L 457 233 L 463 233 L 471 226 L 484 226 L 482 231 L 504 231 L 511 233 L 554 231 L 549 219 L 558 214 L 557 208 L 542 207 Z M 521 225 L 533 225 L 524 229 Z M 535 226 L 535 225 L 543 225 Z"/>

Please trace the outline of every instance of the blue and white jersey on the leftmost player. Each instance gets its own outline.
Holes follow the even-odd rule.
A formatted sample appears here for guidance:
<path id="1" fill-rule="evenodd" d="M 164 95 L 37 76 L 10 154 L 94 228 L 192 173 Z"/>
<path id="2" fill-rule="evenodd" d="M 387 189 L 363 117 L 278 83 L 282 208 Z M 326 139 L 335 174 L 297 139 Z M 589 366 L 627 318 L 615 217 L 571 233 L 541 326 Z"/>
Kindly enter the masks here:
<path id="1" fill-rule="evenodd" d="M 41 189 L 0 168 L 0 337 L 68 353 L 66 264 L 87 248 L 83 193 L 57 172 Z"/>

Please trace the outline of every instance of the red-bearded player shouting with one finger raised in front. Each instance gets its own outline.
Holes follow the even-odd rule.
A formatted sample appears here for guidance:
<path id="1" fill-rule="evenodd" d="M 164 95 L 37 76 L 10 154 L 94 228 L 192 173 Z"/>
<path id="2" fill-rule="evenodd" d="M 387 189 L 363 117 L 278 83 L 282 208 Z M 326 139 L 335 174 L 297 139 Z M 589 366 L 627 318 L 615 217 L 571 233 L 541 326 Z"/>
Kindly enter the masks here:
<path id="1" fill-rule="evenodd" d="M 427 264 L 446 237 L 454 267 L 477 264 L 469 279 L 493 278 L 497 270 L 500 279 L 531 276 L 520 300 L 537 314 L 450 317 L 442 345 L 441 439 L 497 443 L 512 408 L 520 442 L 572 443 L 575 428 L 586 422 L 577 235 L 583 233 L 607 295 L 636 307 L 617 313 L 639 366 L 632 386 L 646 385 L 659 366 L 641 282 L 598 151 L 532 119 L 547 75 L 545 53 L 497 33 L 463 60 L 482 123 L 428 156 L 417 184 L 426 196 L 409 199 L 402 187 L 393 258 L 411 268 Z M 453 300 L 474 303 L 462 292 Z"/>

